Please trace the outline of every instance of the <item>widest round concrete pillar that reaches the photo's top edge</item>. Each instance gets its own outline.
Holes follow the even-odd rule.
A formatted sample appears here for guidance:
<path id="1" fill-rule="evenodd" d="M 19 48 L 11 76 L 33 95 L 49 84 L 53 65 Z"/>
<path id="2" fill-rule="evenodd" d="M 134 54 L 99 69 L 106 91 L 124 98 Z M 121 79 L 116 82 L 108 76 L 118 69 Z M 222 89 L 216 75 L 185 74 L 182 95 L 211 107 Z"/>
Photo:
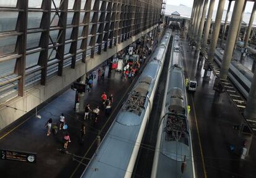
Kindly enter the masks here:
<path id="1" fill-rule="evenodd" d="M 239 20 L 241 19 L 242 9 L 245 0 L 235 1 L 231 23 L 228 31 L 228 39 L 223 54 L 223 61 L 221 63 L 220 78 L 226 79 L 228 76 L 229 64 L 232 59 L 234 45 L 236 43 L 236 34 L 239 28 Z"/>

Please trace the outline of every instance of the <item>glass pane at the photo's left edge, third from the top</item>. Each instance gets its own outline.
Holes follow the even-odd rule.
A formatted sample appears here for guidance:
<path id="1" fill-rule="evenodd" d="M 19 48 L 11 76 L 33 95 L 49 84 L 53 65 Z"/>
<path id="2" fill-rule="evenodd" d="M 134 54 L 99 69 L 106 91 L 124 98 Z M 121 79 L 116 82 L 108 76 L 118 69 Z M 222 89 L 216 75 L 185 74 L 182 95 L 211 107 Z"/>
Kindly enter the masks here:
<path id="1" fill-rule="evenodd" d="M 0 38 L 0 56 L 14 53 L 17 36 L 6 36 Z"/>

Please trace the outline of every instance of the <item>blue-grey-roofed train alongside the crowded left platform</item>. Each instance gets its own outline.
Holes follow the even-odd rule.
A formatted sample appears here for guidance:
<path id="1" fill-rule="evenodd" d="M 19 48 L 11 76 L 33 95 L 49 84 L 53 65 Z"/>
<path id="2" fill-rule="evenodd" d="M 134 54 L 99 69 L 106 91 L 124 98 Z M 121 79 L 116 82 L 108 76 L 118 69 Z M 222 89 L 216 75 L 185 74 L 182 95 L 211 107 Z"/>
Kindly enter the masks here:
<path id="1" fill-rule="evenodd" d="M 81 177 L 131 177 L 171 38 L 167 31 Z M 96 170 L 96 171 L 95 171 Z"/>

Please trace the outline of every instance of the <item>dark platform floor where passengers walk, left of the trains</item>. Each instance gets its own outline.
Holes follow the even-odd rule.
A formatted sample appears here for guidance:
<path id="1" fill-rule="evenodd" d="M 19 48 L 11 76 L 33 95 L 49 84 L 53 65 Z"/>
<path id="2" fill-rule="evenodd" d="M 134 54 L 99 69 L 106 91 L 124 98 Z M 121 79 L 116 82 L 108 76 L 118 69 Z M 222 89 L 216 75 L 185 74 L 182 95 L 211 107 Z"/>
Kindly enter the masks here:
<path id="1" fill-rule="evenodd" d="M 158 40 L 161 35 L 158 36 Z M 150 55 L 147 56 L 147 60 Z M 140 66 L 143 70 L 147 61 Z M 97 72 L 96 72 L 97 73 Z M 140 72 L 139 72 L 140 74 Z M 44 108 L 38 111 L 41 119 L 35 114 L 11 124 L 0 132 L 0 149 L 15 150 L 20 152 L 36 153 L 36 163 L 20 163 L 18 161 L 6 161 L 0 159 L 1 177 L 80 177 L 88 161 L 96 150 L 95 138 L 100 132 L 101 139 L 108 131 L 117 112 L 126 100 L 127 93 L 139 78 L 126 79 L 122 72 L 116 72 L 106 67 L 104 80 L 93 80 L 93 88 L 90 93 L 85 93 L 84 103 L 90 104 L 91 109 L 100 106 L 98 122 L 86 121 L 86 134 L 84 141 L 80 139 L 80 129 L 84 122 L 84 114 L 75 113 L 75 91 L 67 88 L 64 93 L 53 101 L 45 101 Z M 63 92 L 63 91 L 62 91 Z M 111 114 L 105 114 L 101 95 L 113 94 Z M 59 116 L 64 113 L 68 125 L 67 130 L 58 130 L 57 134 L 46 136 L 45 124 L 49 118 L 59 125 Z M 71 142 L 67 150 L 63 149 L 63 138 L 66 132 L 70 135 Z"/>

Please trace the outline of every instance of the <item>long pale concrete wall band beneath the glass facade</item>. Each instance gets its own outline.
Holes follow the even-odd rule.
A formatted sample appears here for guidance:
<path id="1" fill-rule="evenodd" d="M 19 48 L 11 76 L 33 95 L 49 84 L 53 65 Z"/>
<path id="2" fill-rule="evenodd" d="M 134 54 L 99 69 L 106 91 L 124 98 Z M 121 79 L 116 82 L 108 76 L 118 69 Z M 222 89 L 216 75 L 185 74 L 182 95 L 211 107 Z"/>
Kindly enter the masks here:
<path id="1" fill-rule="evenodd" d="M 102 51 L 101 55 L 95 54 L 94 58 L 87 59 L 87 65 L 85 65 L 85 63 L 78 62 L 75 69 L 64 69 L 62 77 L 55 76 L 48 79 L 46 85 L 36 85 L 35 87 L 30 88 L 30 90 L 25 91 L 25 95 L 23 97 L 16 96 L 11 100 L 6 101 L 6 103 L 2 103 L 0 105 L 0 130 L 22 117 L 23 114 L 25 114 L 25 111 L 31 111 L 36 106 L 43 103 L 43 101 L 48 100 L 51 96 L 73 83 L 77 78 L 84 75 L 85 71 L 94 69 L 103 61 L 113 56 L 118 51 L 121 51 L 132 42 L 138 40 L 142 35 L 145 35 L 156 27 L 157 25 L 148 28 L 144 32 L 136 36 L 132 36 L 132 38 L 129 38 L 117 46 L 113 46 L 113 48 L 108 49 L 107 51 Z M 10 106 L 12 108 L 6 106 Z M 17 110 L 13 108 L 17 108 Z"/>

